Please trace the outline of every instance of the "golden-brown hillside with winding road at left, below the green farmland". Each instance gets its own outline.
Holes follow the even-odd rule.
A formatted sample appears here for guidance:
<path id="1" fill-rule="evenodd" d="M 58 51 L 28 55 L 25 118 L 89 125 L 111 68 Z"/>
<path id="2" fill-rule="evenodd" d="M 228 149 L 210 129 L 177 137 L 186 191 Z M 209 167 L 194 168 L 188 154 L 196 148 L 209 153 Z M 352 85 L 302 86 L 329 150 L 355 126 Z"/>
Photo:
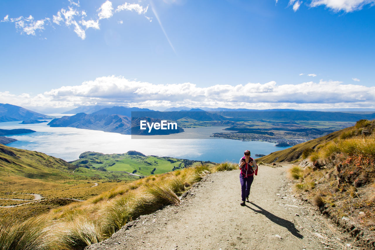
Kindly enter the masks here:
<path id="1" fill-rule="evenodd" d="M 73 199 L 86 200 L 138 178 L 77 167 L 40 152 L 0 144 L 0 222 L 10 214 L 12 220 L 23 221 Z M 37 194 L 40 200 L 35 201 L 30 194 Z M 23 203 L 29 204 L 5 208 Z"/>

